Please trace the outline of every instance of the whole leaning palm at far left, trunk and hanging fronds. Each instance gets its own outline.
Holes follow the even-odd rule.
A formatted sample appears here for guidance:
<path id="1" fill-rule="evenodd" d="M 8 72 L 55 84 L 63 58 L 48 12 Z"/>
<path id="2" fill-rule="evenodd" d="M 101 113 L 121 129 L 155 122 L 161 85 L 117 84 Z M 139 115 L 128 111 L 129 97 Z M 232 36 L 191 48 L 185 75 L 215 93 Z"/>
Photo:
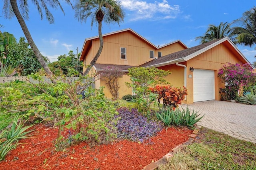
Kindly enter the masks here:
<path id="1" fill-rule="evenodd" d="M 67 3 L 70 4 L 70 0 L 65 0 Z M 50 69 L 47 66 L 46 61 L 44 60 L 44 57 L 36 47 L 36 44 L 34 43 L 34 40 L 32 39 L 32 36 L 30 35 L 30 32 L 28 30 L 28 27 L 24 21 L 28 20 L 28 1 L 27 0 L 21 0 L 19 2 L 19 7 L 17 4 L 17 0 L 4 0 L 4 7 L 3 7 L 3 13 L 4 17 L 11 19 L 16 16 L 18 19 L 18 22 L 20 23 L 20 26 L 22 28 L 22 31 L 31 47 L 31 49 L 34 51 L 34 54 L 36 55 L 36 58 L 38 59 L 41 66 L 44 68 L 46 74 L 53 76 L 54 74 L 50 71 Z M 60 2 L 58 0 L 32 0 L 34 5 L 36 6 L 40 16 L 41 20 L 43 19 L 43 13 L 45 13 L 47 20 L 51 23 L 54 23 L 54 17 L 52 13 L 48 10 L 48 5 L 52 8 L 60 8 L 62 12 L 64 13 L 64 10 L 62 6 L 60 5 Z M 20 9 L 20 10 L 19 10 Z M 21 12 L 21 13 L 20 13 Z"/>

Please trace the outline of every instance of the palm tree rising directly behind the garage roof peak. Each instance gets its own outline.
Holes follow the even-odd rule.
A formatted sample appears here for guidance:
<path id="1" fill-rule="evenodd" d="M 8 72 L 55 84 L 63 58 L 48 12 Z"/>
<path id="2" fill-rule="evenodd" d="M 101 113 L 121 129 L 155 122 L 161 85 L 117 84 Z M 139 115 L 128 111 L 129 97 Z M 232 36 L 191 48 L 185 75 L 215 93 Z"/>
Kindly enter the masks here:
<path id="1" fill-rule="evenodd" d="M 200 39 L 201 44 L 210 42 L 215 39 L 223 38 L 223 37 L 230 37 L 230 23 L 220 23 L 220 25 L 212 25 L 210 24 L 204 36 L 196 37 L 196 40 Z"/>

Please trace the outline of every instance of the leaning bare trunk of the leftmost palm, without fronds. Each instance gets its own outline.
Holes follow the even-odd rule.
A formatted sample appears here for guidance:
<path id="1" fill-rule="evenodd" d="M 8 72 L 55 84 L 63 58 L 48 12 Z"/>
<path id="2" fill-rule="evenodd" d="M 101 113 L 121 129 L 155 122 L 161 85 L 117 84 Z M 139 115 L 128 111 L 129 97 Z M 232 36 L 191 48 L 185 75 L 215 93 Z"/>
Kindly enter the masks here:
<path id="1" fill-rule="evenodd" d="M 34 43 L 34 40 L 32 39 L 32 37 L 30 35 L 28 27 L 27 27 L 24 19 L 22 18 L 21 14 L 20 14 L 20 11 L 19 11 L 19 8 L 18 8 L 18 5 L 17 5 L 17 1 L 16 0 L 10 0 L 10 4 L 12 6 L 12 10 L 13 10 L 16 18 L 18 19 L 18 22 L 20 23 L 22 31 L 23 31 L 26 39 L 28 40 L 28 44 L 30 45 L 31 49 L 34 51 L 34 54 L 36 55 L 36 58 L 38 59 L 41 66 L 44 68 L 46 74 L 48 74 L 48 76 L 52 80 L 53 77 L 54 77 L 54 74 L 51 72 L 50 68 L 47 66 L 46 61 L 44 61 L 44 57 L 42 56 L 42 54 L 40 53 L 40 51 L 36 47 L 36 44 Z M 55 81 L 52 80 L 52 82 L 55 82 Z"/>

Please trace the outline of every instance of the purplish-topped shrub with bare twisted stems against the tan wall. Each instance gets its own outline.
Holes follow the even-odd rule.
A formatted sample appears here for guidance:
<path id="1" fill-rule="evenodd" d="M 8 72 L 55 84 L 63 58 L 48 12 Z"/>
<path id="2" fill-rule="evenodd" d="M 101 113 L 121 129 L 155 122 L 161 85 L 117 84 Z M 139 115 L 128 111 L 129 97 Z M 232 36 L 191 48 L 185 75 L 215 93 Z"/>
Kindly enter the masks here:
<path id="1" fill-rule="evenodd" d="M 108 66 L 100 73 L 100 78 L 106 82 L 114 99 L 118 99 L 119 97 L 118 90 L 120 88 L 120 84 L 118 83 L 118 78 L 122 78 L 122 76 L 122 69 L 115 66 Z"/>

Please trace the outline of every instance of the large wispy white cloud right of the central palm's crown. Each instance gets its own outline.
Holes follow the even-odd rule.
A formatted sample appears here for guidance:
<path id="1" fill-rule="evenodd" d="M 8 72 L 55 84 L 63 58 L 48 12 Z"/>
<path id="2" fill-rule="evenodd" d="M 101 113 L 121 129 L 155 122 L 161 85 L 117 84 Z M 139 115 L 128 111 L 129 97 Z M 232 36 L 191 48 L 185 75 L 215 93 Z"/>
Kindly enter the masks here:
<path id="1" fill-rule="evenodd" d="M 170 6 L 167 0 L 155 1 L 154 3 L 140 0 L 121 0 L 121 2 L 124 9 L 133 12 L 132 19 L 130 19 L 133 21 L 152 18 L 175 19 L 181 13 L 180 6 Z"/>

